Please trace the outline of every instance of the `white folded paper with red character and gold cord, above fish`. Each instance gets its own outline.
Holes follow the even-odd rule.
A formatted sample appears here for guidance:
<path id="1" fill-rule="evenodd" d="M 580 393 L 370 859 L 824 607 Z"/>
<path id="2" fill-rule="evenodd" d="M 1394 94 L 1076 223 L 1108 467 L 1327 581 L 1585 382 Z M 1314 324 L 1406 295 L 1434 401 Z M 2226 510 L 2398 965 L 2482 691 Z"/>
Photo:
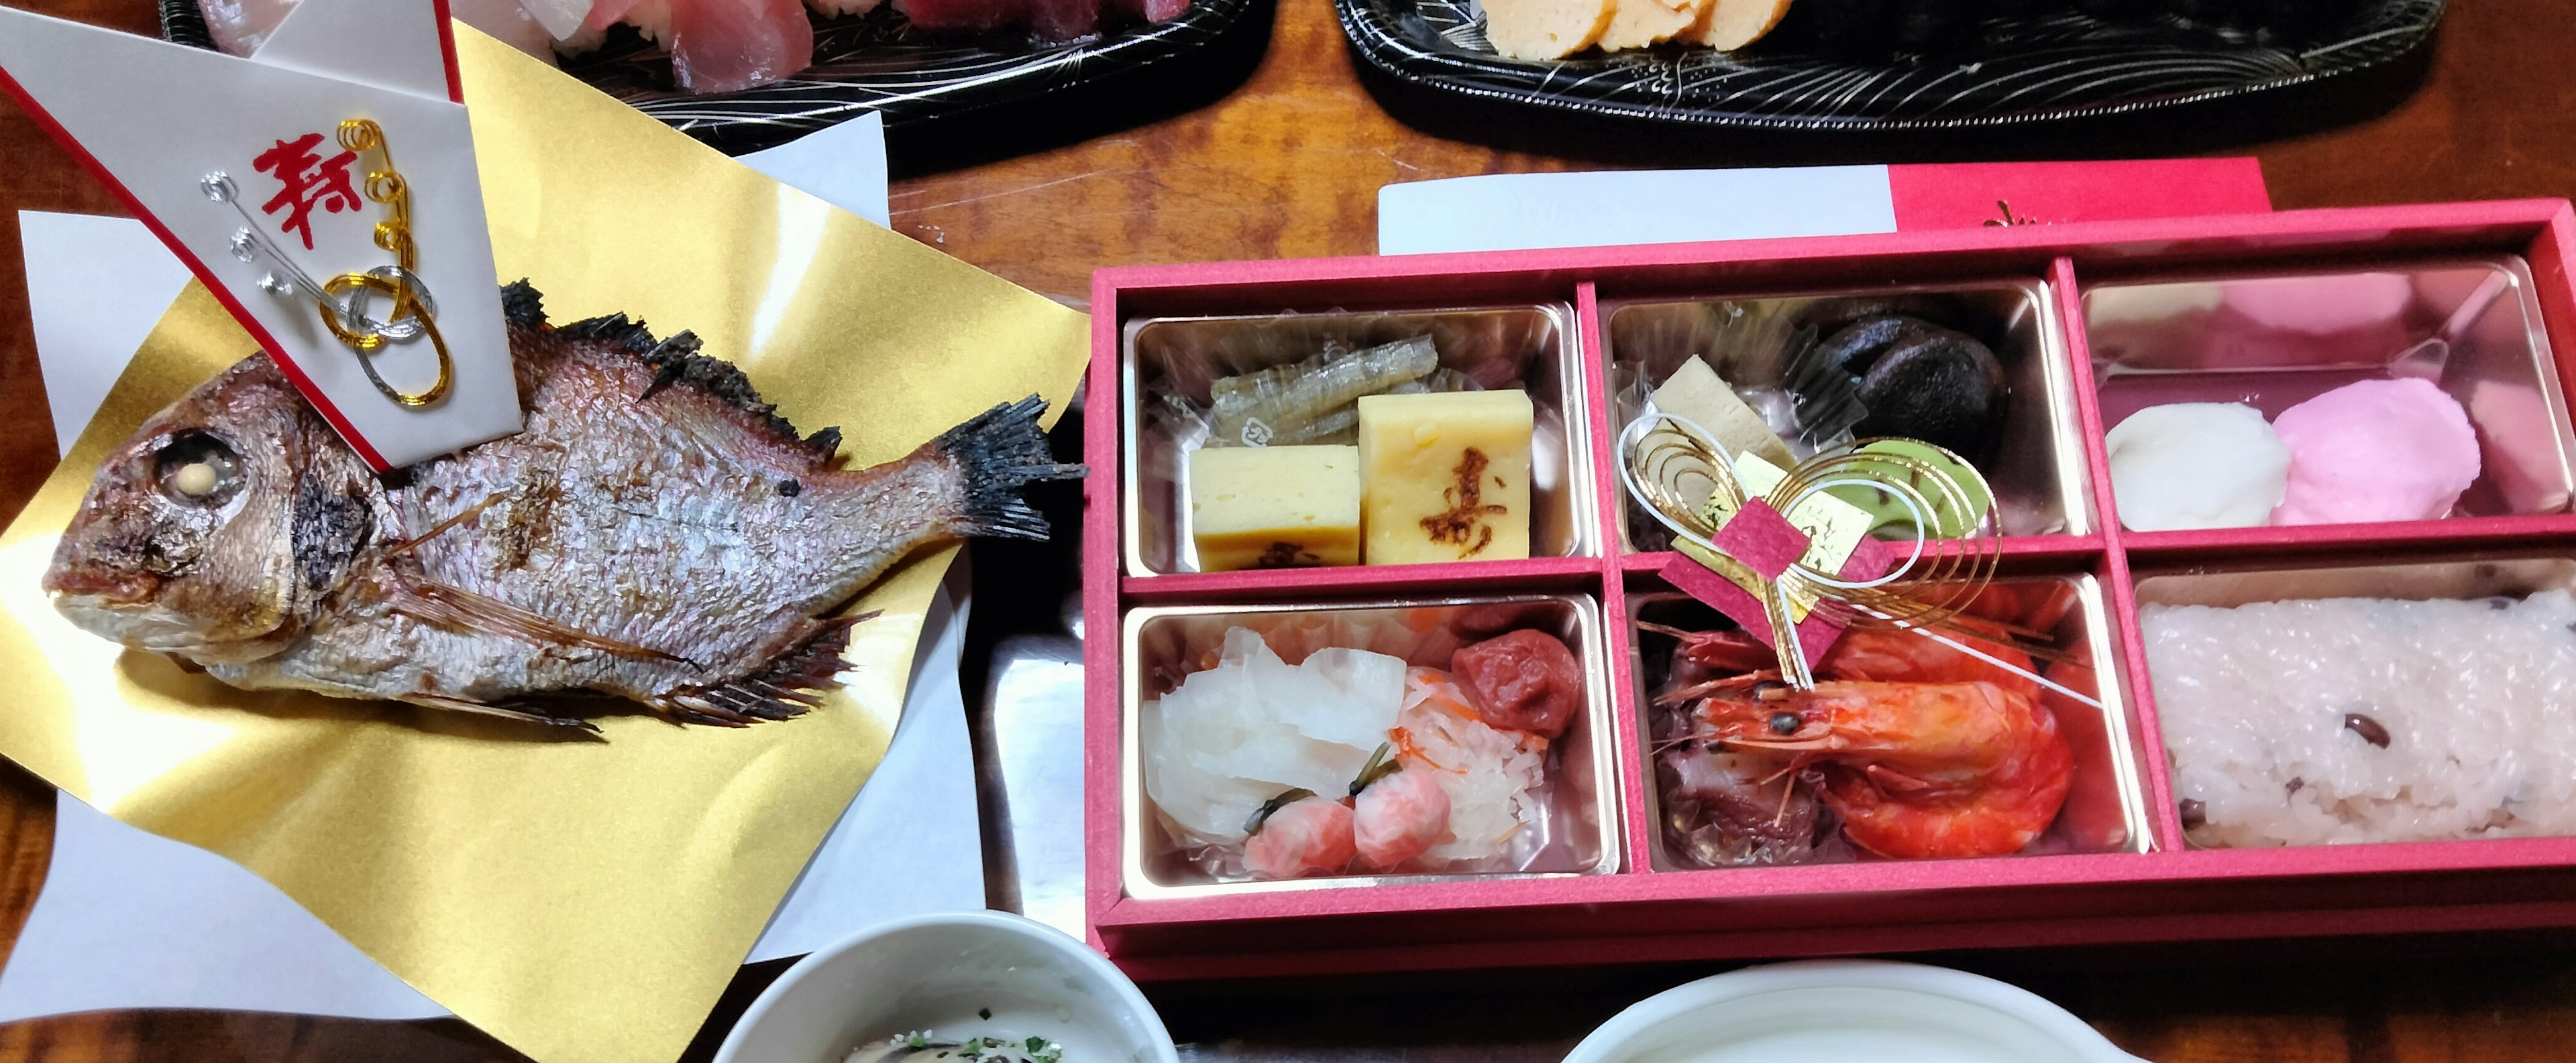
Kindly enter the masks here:
<path id="1" fill-rule="evenodd" d="M 446 49 L 446 5 L 417 0 L 304 0 L 255 59 L 0 8 L 0 90 L 188 263 L 376 468 L 520 427 L 474 139 Z M 374 121 L 381 149 L 343 142 L 348 118 Z M 397 265 L 379 247 L 394 206 L 368 188 L 386 157 L 407 188 L 412 273 L 435 332 L 361 355 L 304 283 L 281 296 L 263 278 L 330 283 Z M 229 203 L 209 198 L 211 175 L 232 185 Z M 245 260 L 245 232 L 286 263 L 258 250 Z M 392 301 L 374 299 L 374 317 L 397 319 Z M 440 399 L 404 407 L 384 394 L 433 391 L 438 342 L 453 381 Z"/>

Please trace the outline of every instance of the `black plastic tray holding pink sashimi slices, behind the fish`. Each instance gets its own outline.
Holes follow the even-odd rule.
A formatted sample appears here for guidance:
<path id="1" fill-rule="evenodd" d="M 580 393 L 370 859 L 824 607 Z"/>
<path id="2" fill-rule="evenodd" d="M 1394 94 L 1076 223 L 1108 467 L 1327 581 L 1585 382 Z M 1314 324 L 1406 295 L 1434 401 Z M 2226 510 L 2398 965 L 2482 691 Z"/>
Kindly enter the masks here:
<path id="1" fill-rule="evenodd" d="M 214 39 L 196 5 L 198 0 L 160 0 L 162 39 L 211 49 Z M 1054 98 L 1185 57 L 1267 13 L 1270 5 L 1260 0 L 1190 0 L 1190 10 L 1170 23 L 1128 23 L 1048 44 L 1025 33 L 930 36 L 884 3 L 866 15 L 817 18 L 814 64 L 775 85 L 680 93 L 670 82 L 670 57 L 631 28 L 611 31 L 598 51 L 564 59 L 564 72 L 719 152 L 742 154 L 868 111 L 884 113 L 886 131 L 896 134 L 994 106 Z"/>

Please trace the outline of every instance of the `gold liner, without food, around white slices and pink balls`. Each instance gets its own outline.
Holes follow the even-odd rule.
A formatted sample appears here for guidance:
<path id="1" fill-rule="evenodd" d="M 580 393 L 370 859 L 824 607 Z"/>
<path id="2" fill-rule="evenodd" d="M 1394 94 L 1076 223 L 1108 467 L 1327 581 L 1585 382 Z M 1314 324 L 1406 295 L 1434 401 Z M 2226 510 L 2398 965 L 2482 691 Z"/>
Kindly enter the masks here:
<path id="1" fill-rule="evenodd" d="M 1497 618 L 1497 610 L 1510 610 Z M 1499 623 L 1497 623 L 1499 620 Z M 1548 749 L 1548 839 L 1520 873 L 1476 875 L 1340 875 L 1298 880 L 1211 880 L 1172 849 L 1162 816 L 1144 785 L 1144 703 L 1170 692 L 1180 677 L 1216 656 L 1226 628 L 1252 628 L 1296 664 L 1314 649 L 1350 646 L 1404 656 L 1406 667 L 1448 669 L 1448 651 L 1502 631 L 1535 628 L 1556 636 L 1584 667 L 1584 710 Z M 1479 636 L 1461 628 L 1481 631 Z M 1422 638 L 1425 633 L 1453 638 Z M 1600 605 L 1584 595 L 1504 595 L 1445 600 L 1386 600 L 1347 605 L 1190 605 L 1141 607 L 1126 615 L 1126 726 L 1121 739 L 1121 818 L 1126 852 L 1121 880 L 1128 896 L 1229 896 L 1368 888 L 1394 883 L 1455 883 L 1497 878 L 1607 875 L 1620 867 L 1620 816 L 1615 744 L 1610 731 L 1610 669 L 1602 649 Z M 1288 646 L 1285 651 L 1280 646 Z"/>

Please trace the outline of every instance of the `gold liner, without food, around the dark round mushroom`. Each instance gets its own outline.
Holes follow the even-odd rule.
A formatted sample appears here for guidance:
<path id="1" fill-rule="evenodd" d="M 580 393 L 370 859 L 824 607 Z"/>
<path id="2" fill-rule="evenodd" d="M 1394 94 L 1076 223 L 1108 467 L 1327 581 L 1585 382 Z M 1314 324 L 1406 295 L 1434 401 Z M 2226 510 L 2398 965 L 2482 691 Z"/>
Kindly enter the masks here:
<path id="1" fill-rule="evenodd" d="M 1911 314 L 1976 337 L 2004 365 L 2012 391 L 1994 456 L 1981 468 L 2004 535 L 2084 535 L 2092 486 L 2056 306 L 2056 288 L 2040 278 L 1605 304 L 1610 438 L 1643 414 L 1646 396 L 1685 358 L 1708 360 L 1736 389 L 1777 386 L 1785 345 L 1801 327 L 1870 311 Z M 1669 541 L 1633 499 L 1620 535 L 1628 548 L 1667 548 Z"/>

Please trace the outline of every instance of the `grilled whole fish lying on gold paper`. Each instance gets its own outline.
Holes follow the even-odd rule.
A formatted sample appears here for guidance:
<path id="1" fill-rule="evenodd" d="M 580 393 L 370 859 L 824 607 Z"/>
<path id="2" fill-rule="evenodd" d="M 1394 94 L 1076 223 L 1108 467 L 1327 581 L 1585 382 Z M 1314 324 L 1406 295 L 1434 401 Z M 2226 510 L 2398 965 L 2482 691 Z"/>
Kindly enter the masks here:
<path id="1" fill-rule="evenodd" d="M 824 618 L 907 553 L 1046 538 L 1020 486 L 1043 402 L 876 468 L 835 468 L 729 363 L 623 314 L 549 327 L 502 291 L 526 430 L 374 476 L 268 355 L 162 409 L 98 468 L 44 577 L 77 625 L 250 690 L 587 726 L 559 695 L 672 721 L 788 718 L 835 685 Z"/>

